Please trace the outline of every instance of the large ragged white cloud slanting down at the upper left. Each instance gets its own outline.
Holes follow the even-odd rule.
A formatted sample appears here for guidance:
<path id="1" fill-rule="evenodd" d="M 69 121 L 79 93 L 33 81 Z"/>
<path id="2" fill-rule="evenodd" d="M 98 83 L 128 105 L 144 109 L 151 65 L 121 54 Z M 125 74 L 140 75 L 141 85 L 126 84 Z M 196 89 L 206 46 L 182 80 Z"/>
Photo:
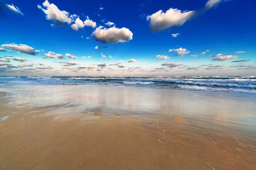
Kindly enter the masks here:
<path id="1" fill-rule="evenodd" d="M 72 17 L 70 16 L 70 13 L 64 10 L 59 10 L 58 7 L 55 6 L 55 4 L 50 4 L 48 0 L 43 3 L 43 6 L 44 8 L 38 5 L 38 8 L 44 11 L 44 13 L 46 14 L 46 19 L 52 20 L 55 26 L 58 26 L 60 24 L 59 22 L 68 24 L 72 22 Z"/>

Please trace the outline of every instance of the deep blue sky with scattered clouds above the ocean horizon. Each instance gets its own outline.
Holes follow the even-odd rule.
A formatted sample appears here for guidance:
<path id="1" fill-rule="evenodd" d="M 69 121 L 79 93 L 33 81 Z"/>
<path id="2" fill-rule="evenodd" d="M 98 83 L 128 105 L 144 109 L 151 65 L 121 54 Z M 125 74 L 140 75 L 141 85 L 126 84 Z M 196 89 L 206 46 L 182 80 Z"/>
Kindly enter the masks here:
<path id="1" fill-rule="evenodd" d="M 255 0 L 0 0 L 0 76 L 256 76 Z"/>

